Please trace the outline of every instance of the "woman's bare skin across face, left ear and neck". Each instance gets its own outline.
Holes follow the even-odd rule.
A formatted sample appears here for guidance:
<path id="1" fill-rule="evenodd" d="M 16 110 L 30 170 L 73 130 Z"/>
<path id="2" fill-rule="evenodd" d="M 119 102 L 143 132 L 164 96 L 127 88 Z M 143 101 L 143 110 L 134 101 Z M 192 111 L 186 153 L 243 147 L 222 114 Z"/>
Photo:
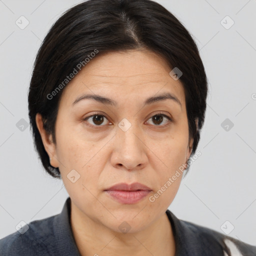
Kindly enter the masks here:
<path id="1" fill-rule="evenodd" d="M 156 193 L 191 153 L 185 94 L 179 80 L 159 55 L 148 50 L 98 54 L 66 85 L 56 119 L 56 144 L 36 123 L 51 165 L 58 167 L 71 198 L 71 228 L 81 255 L 174 255 L 175 242 L 165 214 L 180 185 L 182 173 L 155 199 Z M 146 98 L 170 92 L 181 102 L 164 99 L 143 105 Z M 100 94 L 117 106 L 94 99 L 72 102 L 83 93 Z M 152 118 L 159 111 L 162 122 Z M 93 122 L 99 114 L 105 117 Z M 123 131 L 118 123 L 131 126 Z M 92 126 L 88 126 L 88 125 Z M 94 126 L 93 126 L 94 125 Z M 96 127 L 95 127 L 96 126 Z M 80 177 L 72 183 L 67 174 Z M 123 204 L 103 190 L 119 182 L 140 182 L 152 189 L 142 200 Z M 126 221 L 127 233 L 118 226 Z"/>

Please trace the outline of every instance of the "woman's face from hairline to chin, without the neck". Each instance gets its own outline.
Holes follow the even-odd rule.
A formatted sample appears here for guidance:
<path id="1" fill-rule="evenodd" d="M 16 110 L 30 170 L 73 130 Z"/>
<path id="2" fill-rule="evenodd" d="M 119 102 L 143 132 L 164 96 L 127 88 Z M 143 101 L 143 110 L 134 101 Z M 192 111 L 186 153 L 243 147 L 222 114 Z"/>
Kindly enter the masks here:
<path id="1" fill-rule="evenodd" d="M 188 159 L 192 140 L 184 90 L 170 71 L 150 51 L 111 52 L 90 60 L 64 88 L 56 145 L 46 150 L 80 215 L 117 232 L 126 221 L 129 232 L 136 232 L 172 202 L 182 177 L 178 168 Z M 167 93 L 176 100 L 157 98 Z M 115 103 L 99 97 L 77 100 L 85 94 Z M 125 201 L 105 191 L 120 182 L 139 182 L 150 190 L 137 201 L 139 192 L 123 192 L 120 196 L 133 198 Z"/>

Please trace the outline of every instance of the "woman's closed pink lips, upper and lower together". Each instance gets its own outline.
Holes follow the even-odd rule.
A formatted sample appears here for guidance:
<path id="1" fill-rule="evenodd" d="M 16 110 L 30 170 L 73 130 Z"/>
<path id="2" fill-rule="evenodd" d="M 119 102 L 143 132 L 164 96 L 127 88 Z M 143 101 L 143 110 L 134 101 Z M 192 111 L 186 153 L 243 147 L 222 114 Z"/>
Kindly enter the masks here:
<path id="1" fill-rule="evenodd" d="M 134 182 L 132 184 L 118 183 L 104 191 L 119 203 L 133 204 L 143 199 L 152 189 L 141 183 Z"/>

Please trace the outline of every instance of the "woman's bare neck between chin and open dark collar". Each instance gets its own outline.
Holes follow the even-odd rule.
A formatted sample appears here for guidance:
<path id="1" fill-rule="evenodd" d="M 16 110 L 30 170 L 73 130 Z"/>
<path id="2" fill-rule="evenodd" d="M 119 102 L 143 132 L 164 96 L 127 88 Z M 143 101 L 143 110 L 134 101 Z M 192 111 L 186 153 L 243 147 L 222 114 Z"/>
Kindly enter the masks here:
<path id="1" fill-rule="evenodd" d="M 81 256 L 175 255 L 175 241 L 168 216 L 133 233 L 109 229 L 81 212 L 71 201 L 71 229 Z"/>

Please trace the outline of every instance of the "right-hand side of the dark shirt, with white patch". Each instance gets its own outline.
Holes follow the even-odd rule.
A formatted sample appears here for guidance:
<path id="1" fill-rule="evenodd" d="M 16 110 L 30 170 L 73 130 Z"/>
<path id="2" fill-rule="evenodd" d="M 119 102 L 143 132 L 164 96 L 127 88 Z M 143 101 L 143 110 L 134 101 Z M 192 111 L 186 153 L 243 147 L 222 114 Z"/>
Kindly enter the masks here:
<path id="1" fill-rule="evenodd" d="M 242 242 L 209 227 L 179 219 L 169 209 L 166 211 L 166 214 L 173 228 L 178 255 L 256 255 L 256 246 Z"/>

